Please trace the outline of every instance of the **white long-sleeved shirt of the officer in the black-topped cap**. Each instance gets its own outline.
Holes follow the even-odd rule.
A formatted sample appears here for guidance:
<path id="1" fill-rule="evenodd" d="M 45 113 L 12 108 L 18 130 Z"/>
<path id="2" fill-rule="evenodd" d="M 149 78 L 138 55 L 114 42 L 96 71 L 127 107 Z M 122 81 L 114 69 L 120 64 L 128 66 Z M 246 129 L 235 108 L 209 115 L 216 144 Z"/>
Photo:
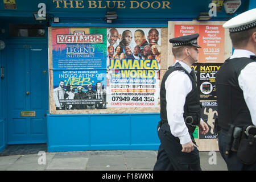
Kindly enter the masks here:
<path id="1" fill-rule="evenodd" d="M 189 65 L 179 62 L 188 73 L 191 72 Z M 172 72 L 166 79 L 166 111 L 170 130 L 174 137 L 179 137 L 180 144 L 191 141 L 188 128 L 185 125 L 183 113 L 187 94 L 192 90 L 192 81 L 189 76 L 181 71 Z"/>

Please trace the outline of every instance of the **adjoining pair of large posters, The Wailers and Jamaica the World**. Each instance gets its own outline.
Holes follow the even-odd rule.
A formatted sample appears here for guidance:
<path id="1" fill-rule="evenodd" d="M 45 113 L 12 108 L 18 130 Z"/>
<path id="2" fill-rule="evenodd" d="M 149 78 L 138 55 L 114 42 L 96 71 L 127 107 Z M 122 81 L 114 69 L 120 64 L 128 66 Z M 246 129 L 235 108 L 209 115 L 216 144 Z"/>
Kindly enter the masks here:
<path id="1" fill-rule="evenodd" d="M 160 28 L 52 30 L 56 110 L 159 107 Z"/>

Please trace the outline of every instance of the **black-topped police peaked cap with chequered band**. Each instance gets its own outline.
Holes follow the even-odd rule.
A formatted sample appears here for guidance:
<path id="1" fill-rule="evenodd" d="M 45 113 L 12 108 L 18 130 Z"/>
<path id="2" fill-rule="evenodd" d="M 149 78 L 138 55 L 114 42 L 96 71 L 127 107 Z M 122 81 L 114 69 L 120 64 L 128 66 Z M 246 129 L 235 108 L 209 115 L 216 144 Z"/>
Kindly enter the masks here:
<path id="1" fill-rule="evenodd" d="M 173 47 L 176 47 L 176 46 L 195 46 L 195 47 L 201 48 L 197 44 L 197 38 L 198 37 L 199 37 L 199 34 L 179 36 L 177 38 L 170 39 L 169 42 L 172 43 Z"/>

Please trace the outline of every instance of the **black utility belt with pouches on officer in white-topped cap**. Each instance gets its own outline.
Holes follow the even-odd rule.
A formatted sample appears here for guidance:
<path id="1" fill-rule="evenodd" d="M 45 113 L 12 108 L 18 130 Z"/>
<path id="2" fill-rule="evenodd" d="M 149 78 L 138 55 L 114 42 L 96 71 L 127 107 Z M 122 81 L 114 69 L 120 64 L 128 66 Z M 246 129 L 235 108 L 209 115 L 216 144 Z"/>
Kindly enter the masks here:
<path id="1" fill-rule="evenodd" d="M 256 161 L 256 126 L 238 127 L 230 125 L 229 130 L 220 129 L 226 135 L 225 155 L 237 152 L 237 158 L 243 164 L 253 164 Z"/>

